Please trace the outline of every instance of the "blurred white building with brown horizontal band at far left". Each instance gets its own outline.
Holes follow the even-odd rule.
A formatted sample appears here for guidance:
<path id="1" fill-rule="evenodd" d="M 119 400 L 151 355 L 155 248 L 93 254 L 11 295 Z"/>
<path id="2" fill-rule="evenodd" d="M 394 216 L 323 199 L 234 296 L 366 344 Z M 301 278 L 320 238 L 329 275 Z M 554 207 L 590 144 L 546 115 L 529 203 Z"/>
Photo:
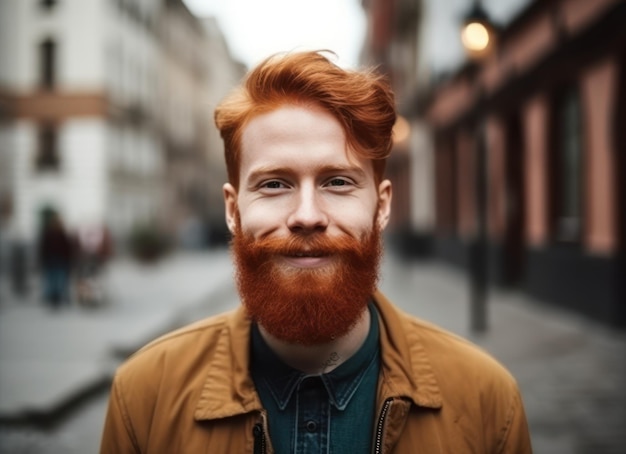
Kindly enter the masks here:
<path id="1" fill-rule="evenodd" d="M 156 6 L 0 3 L 0 150 L 10 179 L 3 190 L 27 240 L 44 207 L 70 227 L 106 222 L 118 234 L 158 209 L 163 160 L 148 114 L 157 89 Z"/>

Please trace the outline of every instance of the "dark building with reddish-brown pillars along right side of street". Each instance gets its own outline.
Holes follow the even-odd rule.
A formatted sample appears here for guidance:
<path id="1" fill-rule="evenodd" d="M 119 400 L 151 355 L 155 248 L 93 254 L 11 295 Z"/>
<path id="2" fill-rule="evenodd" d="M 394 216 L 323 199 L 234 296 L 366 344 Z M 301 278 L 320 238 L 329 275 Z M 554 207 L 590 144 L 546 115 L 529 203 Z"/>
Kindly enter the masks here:
<path id="1" fill-rule="evenodd" d="M 419 106 L 437 255 L 484 229 L 492 283 L 626 326 L 625 93 L 626 3 L 531 2 Z"/>

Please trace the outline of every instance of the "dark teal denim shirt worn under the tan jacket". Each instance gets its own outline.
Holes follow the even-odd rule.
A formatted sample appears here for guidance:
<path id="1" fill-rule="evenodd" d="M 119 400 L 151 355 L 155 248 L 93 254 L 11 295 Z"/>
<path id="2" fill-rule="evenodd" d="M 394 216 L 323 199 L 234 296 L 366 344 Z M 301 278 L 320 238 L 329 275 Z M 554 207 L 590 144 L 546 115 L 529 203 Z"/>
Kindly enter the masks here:
<path id="1" fill-rule="evenodd" d="M 252 327 L 251 373 L 276 453 L 368 453 L 380 368 L 378 315 L 359 350 L 333 371 L 307 375 L 283 363 Z"/>

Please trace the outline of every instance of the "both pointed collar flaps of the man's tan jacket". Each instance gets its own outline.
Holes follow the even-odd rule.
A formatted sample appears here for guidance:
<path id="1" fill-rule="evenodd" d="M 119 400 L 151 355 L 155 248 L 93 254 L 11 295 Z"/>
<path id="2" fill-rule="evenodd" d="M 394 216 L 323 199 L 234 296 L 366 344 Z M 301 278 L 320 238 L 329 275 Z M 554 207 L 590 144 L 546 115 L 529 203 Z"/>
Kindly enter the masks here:
<path id="1" fill-rule="evenodd" d="M 441 393 L 419 331 L 385 298 L 374 294 L 379 313 L 383 400 L 408 398 L 416 405 L 440 408 Z M 196 420 L 221 419 L 260 411 L 261 401 L 249 373 L 250 319 L 243 307 L 226 316 L 196 405 Z"/>

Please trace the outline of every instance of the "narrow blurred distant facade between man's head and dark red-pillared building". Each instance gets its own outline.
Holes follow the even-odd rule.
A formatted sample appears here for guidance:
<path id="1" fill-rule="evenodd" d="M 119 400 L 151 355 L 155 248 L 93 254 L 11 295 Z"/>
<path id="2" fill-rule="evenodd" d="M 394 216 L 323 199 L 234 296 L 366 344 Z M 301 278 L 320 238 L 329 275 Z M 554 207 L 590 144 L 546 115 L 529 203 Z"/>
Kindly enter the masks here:
<path id="1" fill-rule="evenodd" d="M 423 39 L 422 0 L 363 0 L 367 30 L 360 61 L 375 66 L 396 95 L 398 123 L 387 164 L 393 183 L 390 241 L 402 252 L 429 256 L 434 229 L 433 147 L 428 125 L 416 115 L 414 99 L 427 83 L 419 51 Z"/>

